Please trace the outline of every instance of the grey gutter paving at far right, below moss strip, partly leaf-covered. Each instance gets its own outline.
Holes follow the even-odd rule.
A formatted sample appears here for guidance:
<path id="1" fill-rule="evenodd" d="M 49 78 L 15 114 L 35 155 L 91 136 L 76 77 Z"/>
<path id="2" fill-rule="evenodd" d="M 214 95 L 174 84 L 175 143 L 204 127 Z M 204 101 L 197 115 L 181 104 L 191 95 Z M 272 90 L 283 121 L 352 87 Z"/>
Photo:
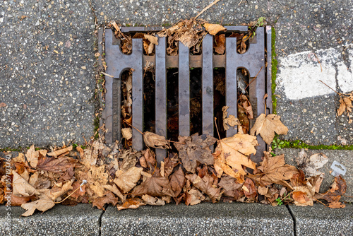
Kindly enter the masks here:
<path id="1" fill-rule="evenodd" d="M 289 165 L 294 165 L 297 167 L 297 156 L 300 152 L 300 149 L 295 148 L 283 148 L 281 150 L 276 150 L 277 155 L 285 154 L 285 162 Z M 320 192 L 323 193 L 328 191 L 331 184 L 333 184 L 334 177 L 330 175 L 332 172 L 331 165 L 333 161 L 337 161 L 344 165 L 347 169 L 347 172 L 343 178 L 347 183 L 347 196 L 353 196 L 353 151 L 350 150 L 307 150 L 306 153 L 309 157 L 315 153 L 323 153 L 328 157 L 328 163 L 326 163 L 322 168 L 318 169 L 322 173 L 325 173 L 323 178 L 323 183 L 320 187 Z M 353 201 L 352 198 L 347 196 L 342 196 L 342 201 Z"/>

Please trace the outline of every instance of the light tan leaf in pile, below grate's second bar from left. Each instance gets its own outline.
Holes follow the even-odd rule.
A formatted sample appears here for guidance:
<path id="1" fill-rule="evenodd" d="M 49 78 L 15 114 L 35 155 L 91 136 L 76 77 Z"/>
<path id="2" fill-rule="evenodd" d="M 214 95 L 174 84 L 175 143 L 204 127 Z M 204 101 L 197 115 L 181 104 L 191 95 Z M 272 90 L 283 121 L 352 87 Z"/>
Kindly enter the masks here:
<path id="1" fill-rule="evenodd" d="M 116 179 L 114 179 L 114 183 L 124 192 L 127 193 L 133 187 L 136 186 L 136 183 L 141 177 L 141 171 L 143 168 L 139 167 L 131 167 L 126 171 L 118 170 L 116 171 Z"/>

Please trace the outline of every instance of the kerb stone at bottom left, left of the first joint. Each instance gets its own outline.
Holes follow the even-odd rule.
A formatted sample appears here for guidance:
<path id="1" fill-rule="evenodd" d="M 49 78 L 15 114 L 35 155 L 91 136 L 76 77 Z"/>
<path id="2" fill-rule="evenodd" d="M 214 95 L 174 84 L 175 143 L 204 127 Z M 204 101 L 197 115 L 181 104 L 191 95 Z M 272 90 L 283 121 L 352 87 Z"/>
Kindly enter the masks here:
<path id="1" fill-rule="evenodd" d="M 99 235 L 102 210 L 90 204 L 77 206 L 56 205 L 44 213 L 20 217 L 25 212 L 19 206 L 11 207 L 11 230 L 6 230 L 5 206 L 0 206 L 0 235 Z"/>

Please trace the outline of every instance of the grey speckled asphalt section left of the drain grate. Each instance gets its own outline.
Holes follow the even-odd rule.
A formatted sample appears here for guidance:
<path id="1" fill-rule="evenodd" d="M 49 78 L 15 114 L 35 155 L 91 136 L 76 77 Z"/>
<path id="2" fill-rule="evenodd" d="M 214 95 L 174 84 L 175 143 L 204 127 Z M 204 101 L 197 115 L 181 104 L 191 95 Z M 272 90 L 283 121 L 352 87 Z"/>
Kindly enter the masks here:
<path id="1" fill-rule="evenodd" d="M 88 1 L 0 4 L 0 148 L 93 133 L 95 18 Z"/>

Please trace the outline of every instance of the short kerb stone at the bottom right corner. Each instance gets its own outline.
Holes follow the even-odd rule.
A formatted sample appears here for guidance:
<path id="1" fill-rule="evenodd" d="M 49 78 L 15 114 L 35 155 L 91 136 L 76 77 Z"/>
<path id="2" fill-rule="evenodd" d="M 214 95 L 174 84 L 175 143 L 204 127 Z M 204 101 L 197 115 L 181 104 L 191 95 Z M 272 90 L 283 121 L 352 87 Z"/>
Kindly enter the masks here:
<path id="1" fill-rule="evenodd" d="M 353 235 L 353 204 L 331 209 L 321 204 L 288 206 L 294 217 L 297 236 Z"/>

